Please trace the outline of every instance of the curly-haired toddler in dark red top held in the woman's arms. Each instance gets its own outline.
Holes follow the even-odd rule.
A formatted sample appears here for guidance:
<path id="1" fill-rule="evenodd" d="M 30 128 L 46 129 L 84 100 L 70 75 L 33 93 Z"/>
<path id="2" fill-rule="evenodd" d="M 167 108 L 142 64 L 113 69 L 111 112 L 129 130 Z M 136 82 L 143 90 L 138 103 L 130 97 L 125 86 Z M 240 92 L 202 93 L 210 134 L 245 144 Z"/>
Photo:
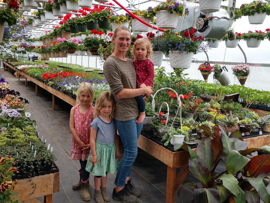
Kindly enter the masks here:
<path id="1" fill-rule="evenodd" d="M 131 53 L 134 55 L 133 65 L 137 74 L 137 88 L 143 88 L 146 86 L 153 87 L 154 64 L 149 58 L 152 57 L 152 45 L 148 39 L 139 38 L 135 41 Z M 145 102 L 144 95 L 135 97 L 140 114 L 135 121 L 140 124 L 145 117 Z"/>

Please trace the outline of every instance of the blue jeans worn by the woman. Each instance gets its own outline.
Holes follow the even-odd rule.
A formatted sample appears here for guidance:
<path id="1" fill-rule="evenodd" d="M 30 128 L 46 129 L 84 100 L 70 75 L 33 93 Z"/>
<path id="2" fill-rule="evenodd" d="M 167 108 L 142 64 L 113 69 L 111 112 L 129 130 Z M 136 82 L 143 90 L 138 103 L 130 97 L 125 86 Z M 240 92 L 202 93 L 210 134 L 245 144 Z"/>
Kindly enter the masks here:
<path id="1" fill-rule="evenodd" d="M 117 131 L 124 146 L 124 155 L 119 165 L 114 184 L 124 187 L 127 176 L 130 176 L 131 167 L 137 157 L 138 139 L 143 127 L 143 122 L 135 123 L 137 118 L 127 121 L 116 120 Z"/>

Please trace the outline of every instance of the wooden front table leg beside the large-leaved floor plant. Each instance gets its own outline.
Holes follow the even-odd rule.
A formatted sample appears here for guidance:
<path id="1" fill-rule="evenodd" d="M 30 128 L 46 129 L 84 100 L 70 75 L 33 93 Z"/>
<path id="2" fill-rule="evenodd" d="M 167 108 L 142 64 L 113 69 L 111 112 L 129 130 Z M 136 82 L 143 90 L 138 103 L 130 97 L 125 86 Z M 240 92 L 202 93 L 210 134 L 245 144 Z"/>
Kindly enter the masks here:
<path id="1" fill-rule="evenodd" d="M 176 168 L 167 166 L 166 203 L 174 203 Z"/>

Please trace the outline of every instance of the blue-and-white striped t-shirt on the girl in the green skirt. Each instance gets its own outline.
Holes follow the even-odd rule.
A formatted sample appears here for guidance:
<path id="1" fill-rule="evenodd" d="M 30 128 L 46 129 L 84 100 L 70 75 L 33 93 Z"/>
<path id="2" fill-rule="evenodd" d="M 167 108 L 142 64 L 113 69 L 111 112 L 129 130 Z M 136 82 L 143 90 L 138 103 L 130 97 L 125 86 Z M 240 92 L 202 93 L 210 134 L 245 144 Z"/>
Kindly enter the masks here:
<path id="1" fill-rule="evenodd" d="M 96 141 L 104 144 L 114 143 L 114 134 L 116 129 L 114 119 L 112 119 L 110 123 L 106 123 L 97 116 L 90 125 L 97 131 Z"/>

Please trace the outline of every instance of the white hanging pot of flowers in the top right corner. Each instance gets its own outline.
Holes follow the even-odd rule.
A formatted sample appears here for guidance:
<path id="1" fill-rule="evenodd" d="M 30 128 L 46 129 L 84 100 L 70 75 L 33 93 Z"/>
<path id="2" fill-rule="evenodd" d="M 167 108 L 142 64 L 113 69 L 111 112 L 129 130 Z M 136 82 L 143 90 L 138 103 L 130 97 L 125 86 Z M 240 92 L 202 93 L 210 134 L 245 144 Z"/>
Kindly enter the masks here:
<path id="1" fill-rule="evenodd" d="M 250 24 L 262 24 L 266 15 L 270 14 L 269 4 L 262 1 L 252 1 L 249 4 L 242 4 L 240 10 L 244 16 L 248 16 Z"/>

